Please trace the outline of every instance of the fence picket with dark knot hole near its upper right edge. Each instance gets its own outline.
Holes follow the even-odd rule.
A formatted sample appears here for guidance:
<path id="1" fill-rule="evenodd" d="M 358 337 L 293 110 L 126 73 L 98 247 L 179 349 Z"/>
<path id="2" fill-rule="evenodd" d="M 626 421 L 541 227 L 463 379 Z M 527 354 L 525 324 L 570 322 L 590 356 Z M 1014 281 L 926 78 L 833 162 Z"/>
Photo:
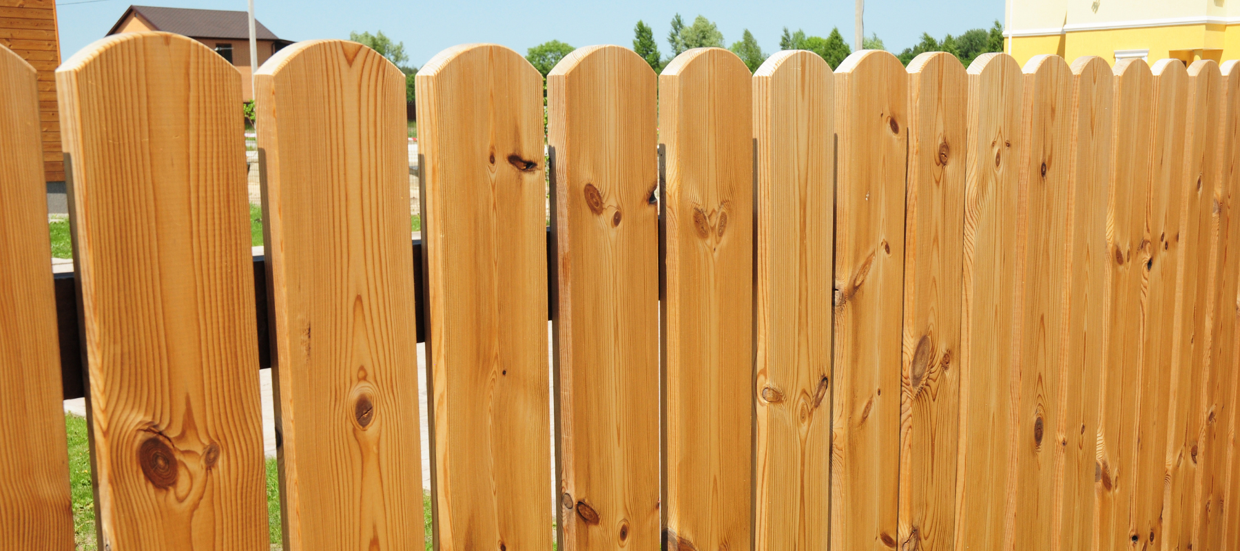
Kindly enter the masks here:
<path id="1" fill-rule="evenodd" d="M 440 550 L 549 550 L 542 76 L 495 45 L 418 72 Z"/>

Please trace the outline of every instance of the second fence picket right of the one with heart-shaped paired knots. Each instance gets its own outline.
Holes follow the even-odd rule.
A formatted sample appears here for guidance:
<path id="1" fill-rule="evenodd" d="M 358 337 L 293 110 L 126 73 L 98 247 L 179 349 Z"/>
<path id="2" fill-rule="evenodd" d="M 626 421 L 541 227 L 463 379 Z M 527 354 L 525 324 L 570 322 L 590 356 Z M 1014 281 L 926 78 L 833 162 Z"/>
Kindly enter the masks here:
<path id="1" fill-rule="evenodd" d="M 836 71 L 832 549 L 897 546 L 908 97 L 888 52 Z"/>

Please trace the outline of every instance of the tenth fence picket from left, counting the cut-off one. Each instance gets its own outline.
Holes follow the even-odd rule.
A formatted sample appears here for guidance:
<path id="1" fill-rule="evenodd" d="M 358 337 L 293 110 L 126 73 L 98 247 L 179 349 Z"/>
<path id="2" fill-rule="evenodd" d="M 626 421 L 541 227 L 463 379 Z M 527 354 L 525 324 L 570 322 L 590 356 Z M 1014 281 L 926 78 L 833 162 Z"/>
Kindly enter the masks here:
<path id="1" fill-rule="evenodd" d="M 1023 94 L 1011 56 L 983 53 L 968 67 L 956 550 L 1011 544 Z"/>

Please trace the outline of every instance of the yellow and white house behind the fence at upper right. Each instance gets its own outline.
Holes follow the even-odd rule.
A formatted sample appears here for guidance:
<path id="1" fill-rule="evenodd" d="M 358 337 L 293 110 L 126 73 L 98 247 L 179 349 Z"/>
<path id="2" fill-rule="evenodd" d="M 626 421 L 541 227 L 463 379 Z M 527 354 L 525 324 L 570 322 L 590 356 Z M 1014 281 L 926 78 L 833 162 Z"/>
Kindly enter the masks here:
<path id="1" fill-rule="evenodd" d="M 1039 53 L 1071 62 L 1099 56 L 1240 58 L 1240 0 L 1004 0 L 1007 51 L 1022 65 Z"/>

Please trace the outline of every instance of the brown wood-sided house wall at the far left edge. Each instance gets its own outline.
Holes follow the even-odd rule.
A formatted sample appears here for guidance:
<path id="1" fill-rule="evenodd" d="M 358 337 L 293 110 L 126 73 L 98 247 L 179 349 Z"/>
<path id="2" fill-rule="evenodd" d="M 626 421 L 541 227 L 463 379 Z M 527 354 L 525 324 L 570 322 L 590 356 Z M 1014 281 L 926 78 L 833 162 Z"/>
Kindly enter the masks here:
<path id="1" fill-rule="evenodd" d="M 56 107 L 56 67 L 61 46 L 55 0 L 0 0 L 0 45 L 38 71 L 40 123 L 43 129 L 43 172 L 47 181 L 64 181 L 61 117 Z"/>

